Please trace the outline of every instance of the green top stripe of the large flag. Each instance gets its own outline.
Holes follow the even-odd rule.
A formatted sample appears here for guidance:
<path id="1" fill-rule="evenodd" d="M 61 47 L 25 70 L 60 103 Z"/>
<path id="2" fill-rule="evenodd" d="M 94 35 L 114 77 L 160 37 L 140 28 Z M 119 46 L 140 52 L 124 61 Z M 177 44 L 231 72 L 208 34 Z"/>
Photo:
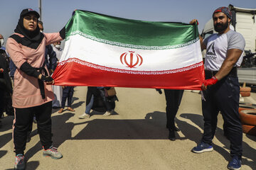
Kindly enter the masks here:
<path id="1" fill-rule="evenodd" d="M 142 46 L 141 48 L 143 46 L 173 48 L 198 40 L 198 27 L 195 25 L 129 20 L 78 10 L 65 27 L 67 39 L 70 35 L 78 33 L 87 35 L 87 38 L 90 37 L 92 40 L 139 45 Z M 135 46 L 134 48 L 138 48 Z"/>

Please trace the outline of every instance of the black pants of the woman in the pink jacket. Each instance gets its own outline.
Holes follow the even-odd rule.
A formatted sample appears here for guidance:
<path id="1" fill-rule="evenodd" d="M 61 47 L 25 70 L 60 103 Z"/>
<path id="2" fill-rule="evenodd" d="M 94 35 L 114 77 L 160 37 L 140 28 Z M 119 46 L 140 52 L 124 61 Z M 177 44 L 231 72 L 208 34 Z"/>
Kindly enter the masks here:
<path id="1" fill-rule="evenodd" d="M 14 149 L 17 154 L 24 154 L 28 131 L 32 129 L 33 115 L 36 115 L 38 133 L 45 149 L 52 145 L 51 115 L 52 102 L 31 108 L 15 108 Z"/>

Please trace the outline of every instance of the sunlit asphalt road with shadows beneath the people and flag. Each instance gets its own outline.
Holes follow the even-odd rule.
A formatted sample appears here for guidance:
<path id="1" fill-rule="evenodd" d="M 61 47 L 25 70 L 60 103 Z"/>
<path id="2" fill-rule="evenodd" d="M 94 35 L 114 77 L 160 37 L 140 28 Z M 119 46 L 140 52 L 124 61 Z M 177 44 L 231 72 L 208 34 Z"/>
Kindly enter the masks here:
<path id="1" fill-rule="evenodd" d="M 164 94 L 155 89 L 117 88 L 116 113 L 105 117 L 93 112 L 87 120 L 86 87 L 76 87 L 75 112 L 53 110 L 53 144 L 62 159 L 43 157 L 41 143 L 33 124 L 33 137 L 26 145 L 27 169 L 226 169 L 229 141 L 223 136 L 223 118 L 213 139 L 213 152 L 194 154 L 191 149 L 201 140 L 203 116 L 201 95 L 185 91 L 176 116 L 181 132 L 168 140 Z M 255 102 L 256 95 L 245 98 Z M 14 168 L 11 139 L 13 117 L 2 119 L 0 128 L 0 170 Z M 256 169 L 256 137 L 243 135 L 242 169 Z"/>

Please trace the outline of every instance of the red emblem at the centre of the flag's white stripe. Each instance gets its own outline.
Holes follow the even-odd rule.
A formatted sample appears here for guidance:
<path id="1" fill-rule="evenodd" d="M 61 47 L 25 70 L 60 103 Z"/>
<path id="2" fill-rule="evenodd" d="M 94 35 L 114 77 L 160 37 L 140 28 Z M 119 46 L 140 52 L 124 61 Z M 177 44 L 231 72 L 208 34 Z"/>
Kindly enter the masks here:
<path id="1" fill-rule="evenodd" d="M 129 55 L 129 57 L 127 57 L 127 55 Z M 136 68 L 136 66 L 139 67 L 142 65 L 143 59 L 139 54 L 129 51 L 122 53 L 120 56 L 120 61 L 129 68 Z"/>

